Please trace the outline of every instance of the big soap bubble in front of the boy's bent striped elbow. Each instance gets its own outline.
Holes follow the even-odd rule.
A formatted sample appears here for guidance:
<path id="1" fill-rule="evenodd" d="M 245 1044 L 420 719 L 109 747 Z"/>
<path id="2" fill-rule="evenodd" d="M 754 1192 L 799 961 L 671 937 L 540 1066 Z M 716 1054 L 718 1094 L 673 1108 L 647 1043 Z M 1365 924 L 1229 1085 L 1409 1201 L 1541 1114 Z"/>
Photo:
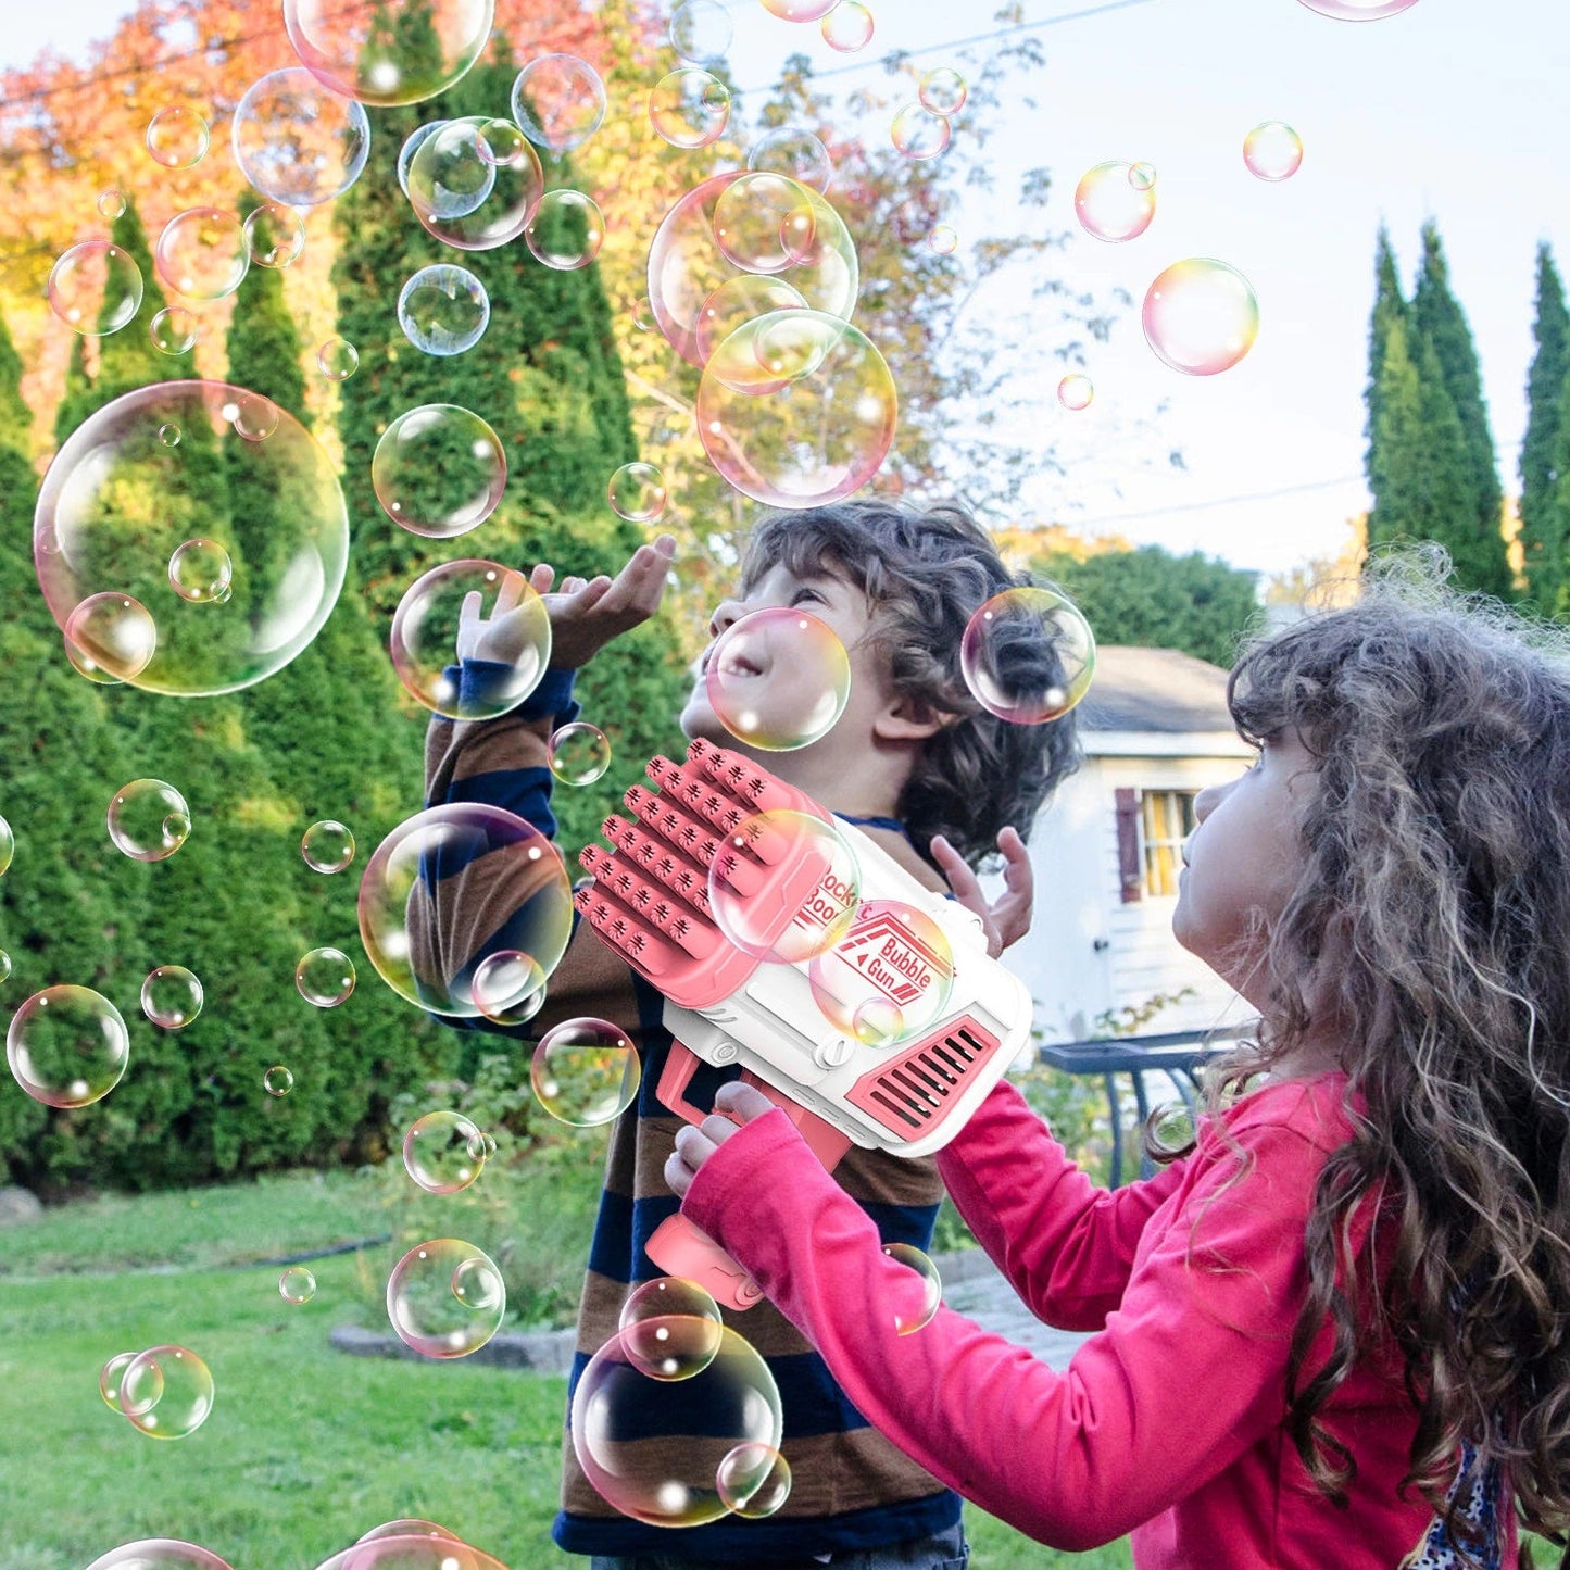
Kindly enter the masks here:
<path id="1" fill-rule="evenodd" d="M 473 898 L 479 878 L 487 907 L 506 915 L 484 950 L 452 953 L 438 944 L 438 914 Z M 432 1014 L 479 1014 L 476 969 L 501 950 L 529 955 L 551 975 L 571 929 L 560 853 L 523 818 L 480 802 L 429 807 L 400 823 L 360 881 L 360 937 L 371 962 L 399 997 Z"/>

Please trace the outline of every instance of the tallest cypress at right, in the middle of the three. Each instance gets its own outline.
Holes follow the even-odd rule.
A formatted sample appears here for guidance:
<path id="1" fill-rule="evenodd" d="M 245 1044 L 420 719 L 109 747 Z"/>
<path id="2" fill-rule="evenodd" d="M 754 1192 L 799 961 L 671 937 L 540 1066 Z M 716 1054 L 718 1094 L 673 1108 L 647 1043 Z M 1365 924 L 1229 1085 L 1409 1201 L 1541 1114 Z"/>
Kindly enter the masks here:
<path id="1" fill-rule="evenodd" d="M 1477 366 L 1471 328 L 1466 325 L 1466 317 L 1455 295 L 1451 294 L 1444 248 L 1440 243 L 1440 231 L 1432 220 L 1422 226 L 1422 264 L 1418 268 L 1418 286 L 1411 298 L 1411 322 L 1416 333 L 1433 345 L 1435 364 L 1462 425 L 1468 495 L 1463 502 L 1463 517 L 1455 520 L 1455 526 L 1466 524 L 1476 532 L 1477 545 L 1466 551 L 1466 557 L 1477 564 L 1481 573 L 1471 579 L 1470 587 L 1507 597 L 1512 592 L 1512 584 L 1501 534 L 1504 491 L 1499 485 L 1493 435 L 1488 430 L 1488 405 L 1482 396 L 1482 374 Z M 1435 430 L 1435 440 L 1438 440 L 1438 430 Z M 1495 565 L 1496 557 L 1498 565 Z"/>

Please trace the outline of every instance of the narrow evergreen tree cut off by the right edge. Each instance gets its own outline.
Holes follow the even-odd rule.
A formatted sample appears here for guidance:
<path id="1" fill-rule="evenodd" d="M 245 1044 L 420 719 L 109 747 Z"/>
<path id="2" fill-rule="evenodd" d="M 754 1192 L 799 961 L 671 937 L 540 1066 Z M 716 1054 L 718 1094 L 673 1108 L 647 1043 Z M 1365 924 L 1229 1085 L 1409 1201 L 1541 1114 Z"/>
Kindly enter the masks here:
<path id="1" fill-rule="evenodd" d="M 1526 438 L 1521 443 L 1521 553 L 1532 600 L 1553 611 L 1565 582 L 1565 534 L 1554 496 L 1556 449 L 1567 419 L 1565 378 L 1570 375 L 1570 312 L 1553 253 L 1537 248 L 1537 353 L 1526 377 Z"/>

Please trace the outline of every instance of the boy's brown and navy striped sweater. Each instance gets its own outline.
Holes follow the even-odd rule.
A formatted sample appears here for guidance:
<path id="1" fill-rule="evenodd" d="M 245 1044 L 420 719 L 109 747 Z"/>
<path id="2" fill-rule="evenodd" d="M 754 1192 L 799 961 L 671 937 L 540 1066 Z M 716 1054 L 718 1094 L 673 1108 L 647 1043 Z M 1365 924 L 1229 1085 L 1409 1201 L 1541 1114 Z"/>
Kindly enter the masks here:
<path id="1" fill-rule="evenodd" d="M 469 666 L 463 678 L 471 678 Z M 571 674 L 553 670 L 524 705 L 498 719 L 435 719 L 425 741 L 427 805 L 487 802 L 506 807 L 554 838 L 545 749 L 551 730 L 576 717 L 578 711 L 571 702 Z M 608 810 L 614 805 L 606 802 Z M 870 834 L 926 887 L 942 887 L 896 823 L 885 818 L 848 821 Z M 575 849 L 565 851 L 570 867 Z M 443 889 L 438 882 L 430 890 L 430 918 L 411 918 L 410 923 L 416 944 L 433 944 L 440 950 L 446 973 L 471 966 L 487 950 L 504 947 L 495 934 L 506 928 L 517 898 L 517 890 L 488 881 L 484 865 L 465 870 L 452 884 L 460 881 L 462 896 L 455 887 Z M 661 995 L 587 925 L 578 925 L 550 978 L 545 1010 L 528 1025 L 506 1030 L 480 1019 L 444 1020 L 468 1028 L 502 1028 L 507 1035 L 534 1039 L 559 1019 L 592 1014 L 619 1025 L 639 1049 L 639 1097 L 617 1119 L 606 1157 L 578 1311 L 568 1404 L 589 1360 L 615 1334 L 628 1294 L 641 1281 L 659 1275 L 644 1243 L 680 1207 L 663 1168 L 675 1148 L 681 1119 L 655 1097 L 670 1050 L 661 1008 Z M 736 1069 L 703 1066 L 688 1096 L 706 1107 L 714 1090 L 735 1075 Z M 904 1160 L 851 1146 L 834 1179 L 867 1212 L 885 1243 L 929 1247 L 944 1192 L 934 1160 Z M 724 1316 L 763 1356 L 779 1385 L 785 1419 L 782 1454 L 791 1468 L 791 1492 L 783 1507 L 763 1520 L 727 1515 L 680 1532 L 648 1526 L 617 1513 L 590 1487 L 564 1432 L 562 1509 L 553 1528 L 560 1548 L 578 1554 L 683 1553 L 694 1559 L 765 1565 L 925 1537 L 959 1520 L 958 1495 L 867 1422 L 818 1352 L 772 1303 L 763 1302 L 744 1313 L 725 1309 Z M 659 1386 L 664 1399 L 670 1391 L 669 1385 Z"/>

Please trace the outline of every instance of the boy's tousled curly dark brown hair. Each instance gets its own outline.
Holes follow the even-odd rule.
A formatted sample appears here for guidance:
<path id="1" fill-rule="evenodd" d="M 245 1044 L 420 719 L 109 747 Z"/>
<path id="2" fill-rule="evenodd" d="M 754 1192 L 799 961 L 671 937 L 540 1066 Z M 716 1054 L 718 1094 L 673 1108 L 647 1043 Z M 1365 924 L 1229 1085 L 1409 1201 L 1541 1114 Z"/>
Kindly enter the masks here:
<path id="1" fill-rule="evenodd" d="M 776 564 L 802 575 L 831 564 L 871 604 L 871 637 L 895 689 L 958 716 L 922 749 L 896 813 L 925 856 L 942 834 L 972 867 L 995 859 L 1005 824 L 1030 837 L 1036 812 L 1079 766 L 1075 713 L 1019 725 L 984 710 L 966 686 L 959 645 L 994 595 L 1036 582 L 1011 573 L 986 529 L 962 507 L 857 498 L 765 515 L 741 560 L 746 593 Z M 1011 680 L 1028 689 L 1061 681 L 1058 650 L 1016 636 Z"/>

